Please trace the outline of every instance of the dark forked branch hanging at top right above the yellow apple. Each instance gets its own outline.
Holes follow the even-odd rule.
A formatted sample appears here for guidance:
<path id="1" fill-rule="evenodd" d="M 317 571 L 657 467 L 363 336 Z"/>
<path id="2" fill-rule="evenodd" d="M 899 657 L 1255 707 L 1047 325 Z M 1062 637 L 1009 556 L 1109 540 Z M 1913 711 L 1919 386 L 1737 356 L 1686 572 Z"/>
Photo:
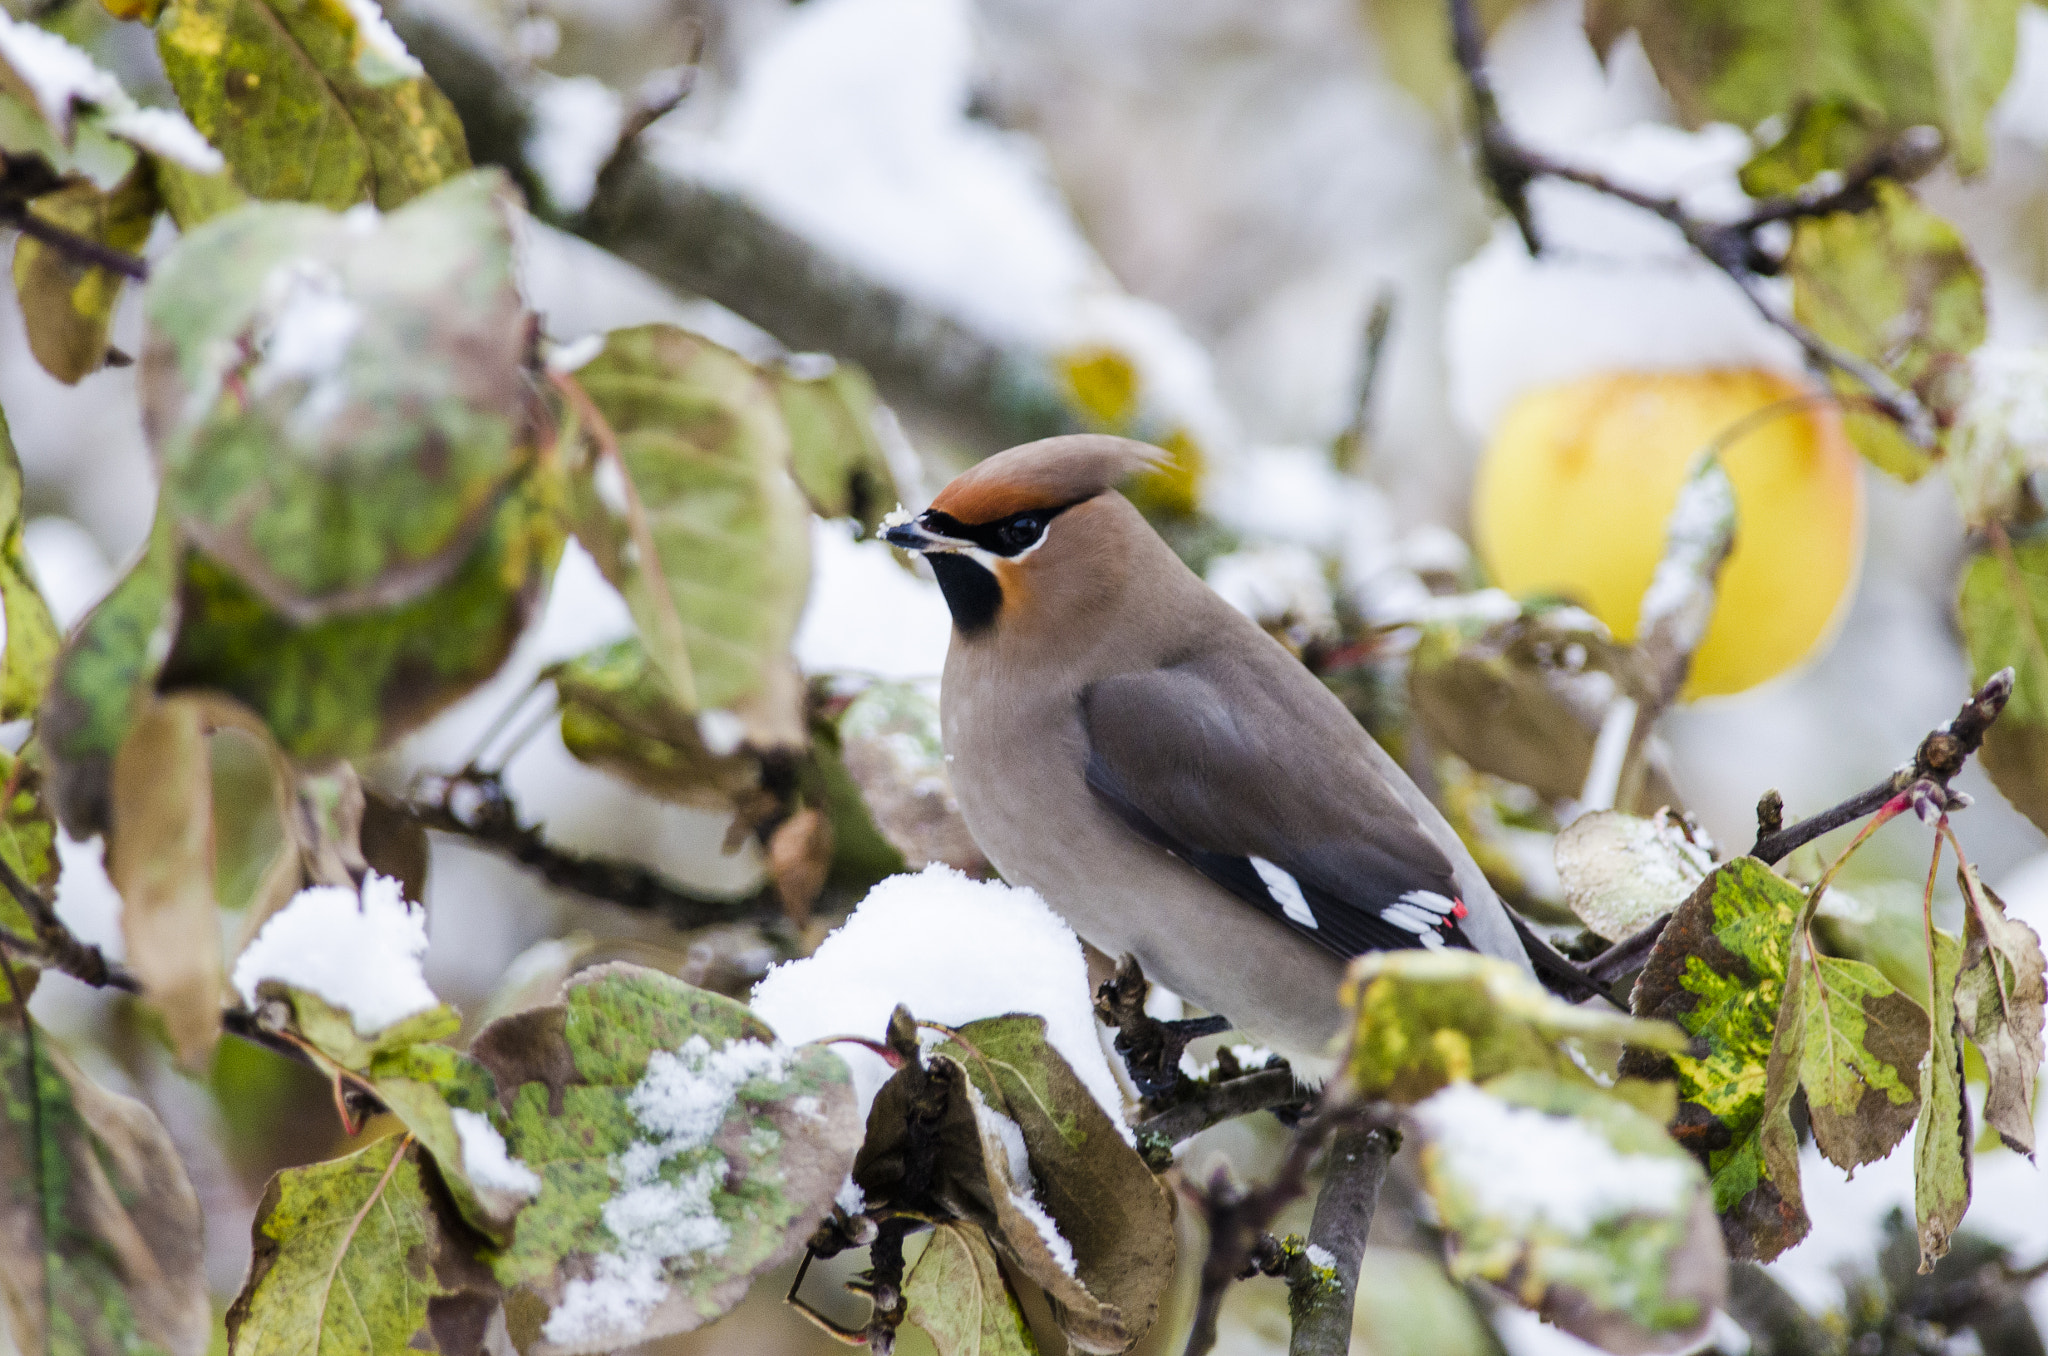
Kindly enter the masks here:
<path id="1" fill-rule="evenodd" d="M 1493 193 L 1499 197 L 1501 207 L 1507 209 L 1507 215 L 1513 217 L 1520 227 L 1522 242 L 1528 246 L 1530 254 L 1542 252 L 1542 242 L 1536 236 L 1536 223 L 1528 203 L 1528 186 L 1538 178 L 1556 178 L 1569 184 L 1579 184 L 1581 188 L 1591 188 L 1604 197 L 1655 213 L 1677 227 L 1679 236 L 1686 238 L 1686 244 L 1692 246 L 1696 254 L 1726 274 L 1726 279 L 1741 289 L 1743 297 L 1749 299 L 1749 305 L 1753 305 L 1767 324 L 1788 334 L 1810 363 L 1851 377 L 1870 393 L 1870 404 L 1898 424 L 1898 428 L 1917 447 L 1933 447 L 1933 412 L 1929 412 L 1913 391 L 1892 381 L 1892 377 L 1874 363 L 1829 342 L 1802 326 L 1796 317 L 1784 313 L 1763 291 L 1761 279 L 1776 272 L 1778 260 L 1774 260 L 1757 240 L 1757 231 L 1763 225 L 1794 217 L 1823 215 L 1827 211 L 1843 211 L 1855 201 L 1858 193 L 1868 193 L 1870 182 L 1878 176 L 1901 176 L 1903 172 L 1915 168 L 1925 170 L 1925 147 L 1917 135 L 1903 145 L 1894 143 L 1890 154 L 1874 156 L 1874 164 L 1862 168 L 1864 176 L 1853 186 L 1843 184 L 1839 190 L 1819 193 L 1810 199 L 1772 199 L 1747 217 L 1739 217 L 1735 221 L 1704 221 L 1688 213 L 1677 199 L 1618 184 L 1606 174 L 1567 164 L 1522 143 L 1501 121 L 1499 100 L 1495 98 L 1491 78 L 1487 76 L 1485 47 L 1475 0 L 1448 2 L 1452 55 L 1464 72 L 1466 88 L 1473 94 L 1473 115 L 1479 133 L 1479 164 L 1485 170 L 1487 180 L 1493 184 Z"/>

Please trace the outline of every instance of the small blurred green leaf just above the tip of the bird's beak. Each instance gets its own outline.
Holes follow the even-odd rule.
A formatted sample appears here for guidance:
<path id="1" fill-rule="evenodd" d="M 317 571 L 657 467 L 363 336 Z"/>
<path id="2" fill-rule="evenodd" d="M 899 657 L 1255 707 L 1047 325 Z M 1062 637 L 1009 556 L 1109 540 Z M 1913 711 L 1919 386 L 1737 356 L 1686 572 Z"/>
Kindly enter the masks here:
<path id="1" fill-rule="evenodd" d="M 879 426 L 893 426 L 895 416 L 852 363 L 823 354 L 803 354 L 803 375 L 793 363 L 770 369 L 788 426 L 791 471 L 819 516 L 854 518 L 872 537 L 901 498 Z M 825 371 L 809 371 L 819 365 Z"/>

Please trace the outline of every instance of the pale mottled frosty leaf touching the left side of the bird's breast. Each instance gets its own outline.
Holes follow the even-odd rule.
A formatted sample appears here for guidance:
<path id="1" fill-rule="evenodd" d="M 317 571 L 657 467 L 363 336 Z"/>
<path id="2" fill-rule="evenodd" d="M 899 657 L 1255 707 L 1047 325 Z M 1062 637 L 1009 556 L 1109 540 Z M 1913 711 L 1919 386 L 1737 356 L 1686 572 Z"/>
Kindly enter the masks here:
<path id="1" fill-rule="evenodd" d="M 874 828 L 909 871 L 932 862 L 973 875 L 987 871 L 952 795 L 934 692 L 909 682 L 872 682 L 840 713 L 838 739 L 840 760 Z"/>

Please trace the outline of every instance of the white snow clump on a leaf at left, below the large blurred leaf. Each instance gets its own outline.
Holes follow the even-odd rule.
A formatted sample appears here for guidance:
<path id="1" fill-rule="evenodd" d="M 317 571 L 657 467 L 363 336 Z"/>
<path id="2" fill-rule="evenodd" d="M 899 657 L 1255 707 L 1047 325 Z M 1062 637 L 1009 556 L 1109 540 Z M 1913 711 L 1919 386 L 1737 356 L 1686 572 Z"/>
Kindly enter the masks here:
<path id="1" fill-rule="evenodd" d="M 420 971 L 424 955 L 426 909 L 373 871 L 360 895 L 340 885 L 293 895 L 236 961 L 233 983 L 250 1008 L 264 979 L 317 993 L 348 1010 L 356 1034 L 375 1036 L 440 1004 Z"/>

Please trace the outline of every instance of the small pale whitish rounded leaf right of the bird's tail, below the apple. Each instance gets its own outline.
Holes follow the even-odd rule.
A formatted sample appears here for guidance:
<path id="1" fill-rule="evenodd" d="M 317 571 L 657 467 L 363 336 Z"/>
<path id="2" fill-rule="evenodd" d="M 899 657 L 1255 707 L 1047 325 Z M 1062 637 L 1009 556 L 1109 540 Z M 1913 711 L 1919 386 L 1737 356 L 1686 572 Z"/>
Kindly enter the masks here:
<path id="1" fill-rule="evenodd" d="M 1651 819 L 1597 809 L 1556 836 L 1556 875 L 1565 903 L 1587 928 L 1620 942 L 1669 914 L 1714 868 L 1671 811 Z"/>

